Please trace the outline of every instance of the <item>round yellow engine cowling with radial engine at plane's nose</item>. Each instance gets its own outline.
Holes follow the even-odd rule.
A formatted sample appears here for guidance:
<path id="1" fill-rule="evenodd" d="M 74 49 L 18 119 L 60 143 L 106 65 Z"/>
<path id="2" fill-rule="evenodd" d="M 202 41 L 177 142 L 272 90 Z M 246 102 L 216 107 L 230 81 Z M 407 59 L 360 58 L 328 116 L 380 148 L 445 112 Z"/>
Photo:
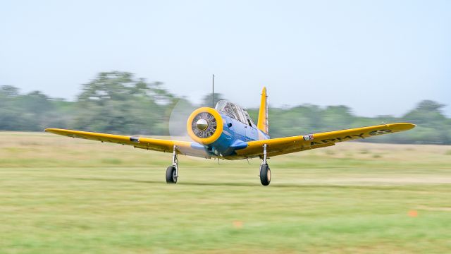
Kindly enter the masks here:
<path id="1" fill-rule="evenodd" d="M 223 119 L 215 109 L 202 107 L 191 113 L 186 128 L 192 140 L 202 145 L 209 145 L 221 136 Z"/>

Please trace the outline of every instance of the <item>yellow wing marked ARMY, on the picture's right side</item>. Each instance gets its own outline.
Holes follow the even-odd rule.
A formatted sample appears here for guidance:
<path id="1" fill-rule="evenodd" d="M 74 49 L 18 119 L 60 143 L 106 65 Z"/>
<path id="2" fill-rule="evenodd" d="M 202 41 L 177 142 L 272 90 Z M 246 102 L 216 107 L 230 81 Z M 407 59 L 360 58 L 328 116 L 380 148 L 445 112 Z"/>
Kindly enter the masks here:
<path id="1" fill-rule="evenodd" d="M 414 128 L 412 123 L 390 123 L 378 126 L 352 128 L 341 131 L 330 131 L 308 135 L 298 135 L 286 138 L 271 138 L 268 140 L 249 141 L 247 147 L 236 150 L 240 157 L 263 156 L 263 145 L 266 144 L 268 157 L 285 155 L 290 152 L 299 152 L 315 148 L 328 147 L 335 143 L 357 140 L 360 138 L 371 138 L 376 135 L 408 131 Z"/>

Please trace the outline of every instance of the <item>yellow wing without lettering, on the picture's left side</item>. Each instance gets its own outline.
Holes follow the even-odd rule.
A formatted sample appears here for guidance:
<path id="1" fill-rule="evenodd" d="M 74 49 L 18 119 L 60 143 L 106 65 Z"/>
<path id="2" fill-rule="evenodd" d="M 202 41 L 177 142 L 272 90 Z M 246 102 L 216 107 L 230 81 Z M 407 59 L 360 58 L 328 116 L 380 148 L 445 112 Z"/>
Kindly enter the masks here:
<path id="1" fill-rule="evenodd" d="M 179 154 L 195 157 L 210 158 L 202 145 L 186 141 L 161 140 L 156 138 L 140 138 L 127 135 L 113 135 L 106 133 L 92 133 L 87 131 L 73 131 L 59 128 L 47 128 L 45 131 L 58 135 L 65 135 L 71 138 L 84 138 L 121 145 L 132 145 L 136 148 L 154 150 L 159 152 L 173 152 L 174 145 Z"/>

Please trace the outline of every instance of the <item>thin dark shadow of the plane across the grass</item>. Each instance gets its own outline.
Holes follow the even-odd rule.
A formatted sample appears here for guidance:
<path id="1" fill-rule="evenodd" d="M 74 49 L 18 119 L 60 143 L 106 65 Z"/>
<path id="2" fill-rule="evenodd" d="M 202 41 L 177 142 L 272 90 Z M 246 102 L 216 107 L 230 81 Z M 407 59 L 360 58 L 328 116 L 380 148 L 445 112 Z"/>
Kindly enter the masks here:
<path id="1" fill-rule="evenodd" d="M 65 179 L 73 179 L 79 181 L 110 181 L 121 183 L 151 183 L 156 185 L 167 185 L 165 181 L 145 181 L 136 179 L 109 179 L 109 178 L 88 178 L 88 177 L 67 177 Z M 261 186 L 257 181 L 256 183 L 224 183 L 224 182 L 179 182 L 181 186 L 236 186 L 236 187 L 259 187 Z M 357 185 L 332 185 L 332 184 L 285 184 L 285 183 L 272 183 L 268 188 L 334 188 L 334 189 L 365 189 L 365 190 L 398 190 L 399 188 L 405 188 L 405 186 L 357 186 Z"/>

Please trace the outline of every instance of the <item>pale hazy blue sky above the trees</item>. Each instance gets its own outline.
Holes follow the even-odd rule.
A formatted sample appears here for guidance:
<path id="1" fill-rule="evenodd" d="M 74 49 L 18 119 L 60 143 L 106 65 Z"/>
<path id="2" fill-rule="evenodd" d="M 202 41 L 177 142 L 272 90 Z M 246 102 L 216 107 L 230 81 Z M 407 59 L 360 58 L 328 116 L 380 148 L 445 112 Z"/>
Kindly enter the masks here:
<path id="1" fill-rule="evenodd" d="M 451 116 L 451 1 L 4 1 L 0 85 L 74 99 L 130 71 L 194 100 L 345 104 L 400 116 L 421 99 Z"/>

